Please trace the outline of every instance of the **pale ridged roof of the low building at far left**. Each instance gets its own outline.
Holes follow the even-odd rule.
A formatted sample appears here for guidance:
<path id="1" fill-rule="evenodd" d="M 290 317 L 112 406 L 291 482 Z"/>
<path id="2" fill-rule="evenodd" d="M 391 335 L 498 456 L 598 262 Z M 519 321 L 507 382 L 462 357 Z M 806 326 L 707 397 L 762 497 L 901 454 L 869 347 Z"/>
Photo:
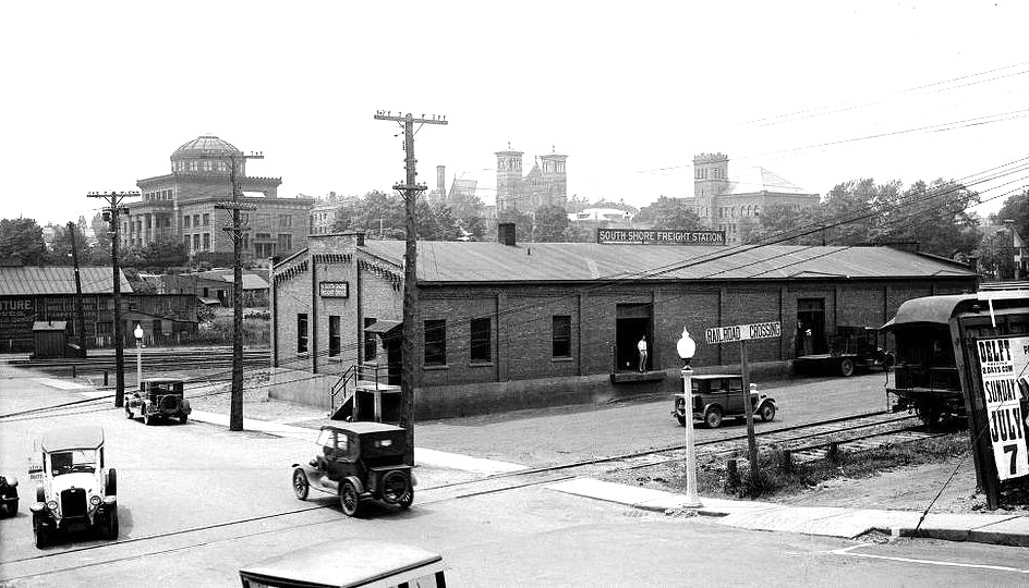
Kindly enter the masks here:
<path id="1" fill-rule="evenodd" d="M 121 274 L 121 291 L 132 293 L 132 285 Z M 78 269 L 83 294 L 112 293 L 111 268 Z M 0 267 L 0 296 L 39 296 L 46 294 L 75 294 L 75 268 L 64 266 L 20 268 Z"/>

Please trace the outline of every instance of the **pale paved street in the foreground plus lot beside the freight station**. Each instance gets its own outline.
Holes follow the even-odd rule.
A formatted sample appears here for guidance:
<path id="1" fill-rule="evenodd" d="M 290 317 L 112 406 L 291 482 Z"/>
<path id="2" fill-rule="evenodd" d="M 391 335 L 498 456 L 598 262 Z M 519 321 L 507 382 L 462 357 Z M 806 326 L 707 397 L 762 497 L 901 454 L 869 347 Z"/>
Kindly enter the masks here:
<path id="1" fill-rule="evenodd" d="M 76 391 L 11 376 L 0 371 L 0 414 L 80 400 Z M 852 380 L 859 388 L 860 381 Z M 820 396 L 842 394 L 848 403 L 863 404 L 862 392 L 848 396 L 838 385 L 814 381 L 807 388 L 776 392 L 789 399 L 784 401 L 784 422 L 808 414 L 809 408 L 800 404 L 792 414 L 788 407 L 806 395 L 819 394 L 820 388 Z M 827 409 L 825 404 L 814 406 L 823 407 L 814 409 L 816 414 Z M 526 455 L 518 445 L 535 446 L 533 439 L 554 437 L 542 450 L 531 452 L 562 461 L 639 444 L 663 445 L 681 434 L 665 403 L 561 413 L 564 417 L 521 415 L 510 420 L 425 424 L 420 442 L 433 449 L 464 448 L 480 455 L 514 458 Z M 307 442 L 230 433 L 199 422 L 145 427 L 105 406 L 66 416 L 0 421 L 0 469 L 23 471 L 32 439 L 43 429 L 84 421 L 105 428 L 108 460 L 119 470 L 121 540 L 111 543 L 78 535 L 36 550 L 27 507 L 23 507 L 17 517 L 0 519 L 0 584 L 238 586 L 235 573 L 241 565 L 323 539 L 355 537 L 439 551 L 452 566 L 453 586 L 1016 586 L 1024 585 L 1029 567 L 1025 549 L 934 541 L 861 546 L 751 532 L 580 499 L 545 487 L 462 497 L 452 489 L 431 488 L 468 479 L 468 475 L 431 468 L 421 471 L 419 494 L 410 511 L 373 507 L 366 518 L 350 519 L 331 498 L 302 503 L 292 497 L 289 464 L 306 458 L 313 450 Z M 653 430 L 637 429 L 638 421 L 651 424 Z M 541 430 L 554 434 L 541 434 Z M 643 439 L 627 441 L 634 430 L 642 430 Z M 568 441 L 583 431 L 589 434 L 585 441 Z M 23 488 L 23 495 L 27 494 Z"/>

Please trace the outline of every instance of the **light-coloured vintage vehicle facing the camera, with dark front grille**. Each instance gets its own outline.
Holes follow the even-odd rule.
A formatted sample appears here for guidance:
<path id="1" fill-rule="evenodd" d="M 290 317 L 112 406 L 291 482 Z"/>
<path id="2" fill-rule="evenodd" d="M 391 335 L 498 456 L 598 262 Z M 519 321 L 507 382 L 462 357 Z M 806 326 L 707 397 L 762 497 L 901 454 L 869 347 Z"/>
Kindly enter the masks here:
<path id="1" fill-rule="evenodd" d="M 104 454 L 104 429 L 73 427 L 49 431 L 38 442 L 29 469 L 38 479 L 29 506 L 36 547 L 68 529 L 99 530 L 118 538 L 118 481 Z"/>

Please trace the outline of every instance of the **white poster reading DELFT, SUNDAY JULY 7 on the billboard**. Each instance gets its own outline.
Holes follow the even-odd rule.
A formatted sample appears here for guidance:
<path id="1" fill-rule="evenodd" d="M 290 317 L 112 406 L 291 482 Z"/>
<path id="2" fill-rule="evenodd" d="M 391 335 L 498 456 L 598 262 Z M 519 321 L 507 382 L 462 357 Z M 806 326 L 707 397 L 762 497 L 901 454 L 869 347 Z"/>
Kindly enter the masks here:
<path id="1" fill-rule="evenodd" d="M 1022 390 L 1029 388 L 1029 336 L 980 339 L 976 351 L 997 477 L 1020 478 L 1029 474 L 1026 415 L 1019 402 L 1029 393 Z"/>

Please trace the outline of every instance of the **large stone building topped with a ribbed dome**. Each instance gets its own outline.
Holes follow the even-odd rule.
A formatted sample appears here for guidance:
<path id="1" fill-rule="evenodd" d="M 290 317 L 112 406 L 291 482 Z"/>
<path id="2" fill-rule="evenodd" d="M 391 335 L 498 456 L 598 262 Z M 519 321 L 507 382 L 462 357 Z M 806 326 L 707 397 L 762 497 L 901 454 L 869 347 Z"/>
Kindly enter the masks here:
<path id="1" fill-rule="evenodd" d="M 222 228 L 231 212 L 215 208 L 232 199 L 232 170 L 243 193 L 241 201 L 256 206 L 240 212 L 243 259 L 288 256 L 307 243 L 307 217 L 313 198 L 279 198 L 281 177 L 246 175 L 246 158 L 231 143 L 203 135 L 171 154 L 171 173 L 136 182 L 142 200 L 128 205 L 121 243 L 145 247 L 160 238 L 181 240 L 190 257 L 216 265 L 231 262 L 232 238 Z"/>

